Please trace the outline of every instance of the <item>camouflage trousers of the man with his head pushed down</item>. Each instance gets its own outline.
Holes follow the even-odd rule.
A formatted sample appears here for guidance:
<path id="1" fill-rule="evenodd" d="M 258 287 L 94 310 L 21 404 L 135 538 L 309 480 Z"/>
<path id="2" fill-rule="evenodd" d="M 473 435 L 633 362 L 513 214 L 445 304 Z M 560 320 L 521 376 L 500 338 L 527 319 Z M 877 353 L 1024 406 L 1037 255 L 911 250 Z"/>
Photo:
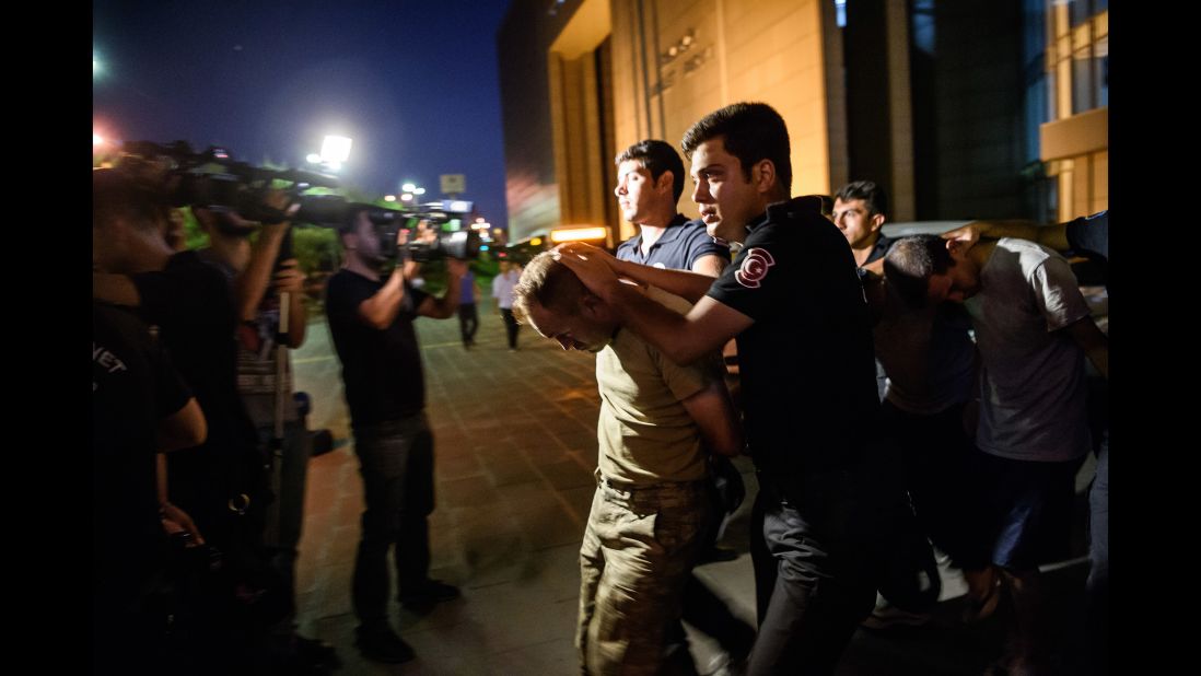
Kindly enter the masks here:
<path id="1" fill-rule="evenodd" d="M 575 634 L 584 674 L 691 671 L 664 664 L 664 636 L 712 518 L 705 481 L 652 486 L 599 479 L 580 549 Z"/>

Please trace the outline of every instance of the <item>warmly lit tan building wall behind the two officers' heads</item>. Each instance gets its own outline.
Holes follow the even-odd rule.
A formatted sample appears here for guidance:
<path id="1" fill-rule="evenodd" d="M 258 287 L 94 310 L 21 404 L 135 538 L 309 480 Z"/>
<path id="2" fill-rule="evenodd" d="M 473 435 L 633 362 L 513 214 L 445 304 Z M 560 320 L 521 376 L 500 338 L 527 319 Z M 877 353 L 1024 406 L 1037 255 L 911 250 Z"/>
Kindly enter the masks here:
<path id="1" fill-rule="evenodd" d="M 685 131 L 706 113 L 739 101 L 763 101 L 788 122 L 793 193 L 827 192 L 823 5 L 613 0 L 617 148 L 644 138 L 679 146 Z M 687 49 L 664 56 L 688 36 Z M 695 215 L 687 191 L 680 202 L 685 214 Z"/>

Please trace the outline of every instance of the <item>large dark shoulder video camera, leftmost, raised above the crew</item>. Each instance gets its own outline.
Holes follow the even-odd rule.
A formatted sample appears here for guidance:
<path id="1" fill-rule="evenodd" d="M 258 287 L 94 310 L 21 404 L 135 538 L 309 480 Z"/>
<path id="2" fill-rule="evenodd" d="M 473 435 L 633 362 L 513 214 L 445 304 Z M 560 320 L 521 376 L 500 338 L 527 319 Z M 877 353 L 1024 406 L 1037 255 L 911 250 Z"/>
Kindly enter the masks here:
<path id="1" fill-rule="evenodd" d="M 267 169 L 234 161 L 223 148 L 196 152 L 185 140 L 162 145 L 150 140 L 126 142 L 120 167 L 156 181 L 172 207 L 234 213 L 247 221 L 279 223 L 288 219 L 282 209 L 267 203 L 268 191 L 279 183 L 295 197 L 311 187 L 337 187 L 337 179 L 300 169 Z"/>

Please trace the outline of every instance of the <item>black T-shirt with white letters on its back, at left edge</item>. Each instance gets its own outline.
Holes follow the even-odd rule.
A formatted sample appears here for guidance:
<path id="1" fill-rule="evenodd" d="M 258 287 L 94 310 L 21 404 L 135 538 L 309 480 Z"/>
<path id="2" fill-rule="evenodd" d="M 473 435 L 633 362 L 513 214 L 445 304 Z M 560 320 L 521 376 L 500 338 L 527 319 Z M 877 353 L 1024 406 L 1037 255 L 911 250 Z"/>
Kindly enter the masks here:
<path id="1" fill-rule="evenodd" d="M 155 430 L 191 396 L 149 327 L 92 301 L 92 561 L 107 593 L 129 593 L 159 563 Z"/>

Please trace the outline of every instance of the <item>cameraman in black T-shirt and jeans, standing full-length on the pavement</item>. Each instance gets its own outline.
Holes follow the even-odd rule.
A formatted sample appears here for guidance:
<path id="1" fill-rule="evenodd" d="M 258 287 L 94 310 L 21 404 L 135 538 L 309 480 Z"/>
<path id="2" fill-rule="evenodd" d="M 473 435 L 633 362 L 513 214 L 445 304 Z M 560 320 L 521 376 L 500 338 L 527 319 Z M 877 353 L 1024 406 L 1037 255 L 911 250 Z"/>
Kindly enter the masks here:
<path id="1" fill-rule="evenodd" d="M 371 208 L 351 205 L 339 228 L 345 264 L 329 279 L 325 313 L 342 364 L 366 510 L 354 564 L 355 645 L 370 659 L 401 663 L 412 648 L 388 623 L 388 550 L 395 546 L 399 598 L 417 610 L 459 597 L 428 576 L 434 510 L 434 436 L 413 319 L 454 316 L 467 265 L 447 258 L 447 291 L 434 298 L 406 279 L 408 231 L 378 228 Z M 381 232 L 382 231 L 382 232 Z M 431 233 L 435 234 L 436 233 Z M 392 239 L 394 237 L 394 239 Z M 396 265 L 383 279 L 386 251 Z"/>

